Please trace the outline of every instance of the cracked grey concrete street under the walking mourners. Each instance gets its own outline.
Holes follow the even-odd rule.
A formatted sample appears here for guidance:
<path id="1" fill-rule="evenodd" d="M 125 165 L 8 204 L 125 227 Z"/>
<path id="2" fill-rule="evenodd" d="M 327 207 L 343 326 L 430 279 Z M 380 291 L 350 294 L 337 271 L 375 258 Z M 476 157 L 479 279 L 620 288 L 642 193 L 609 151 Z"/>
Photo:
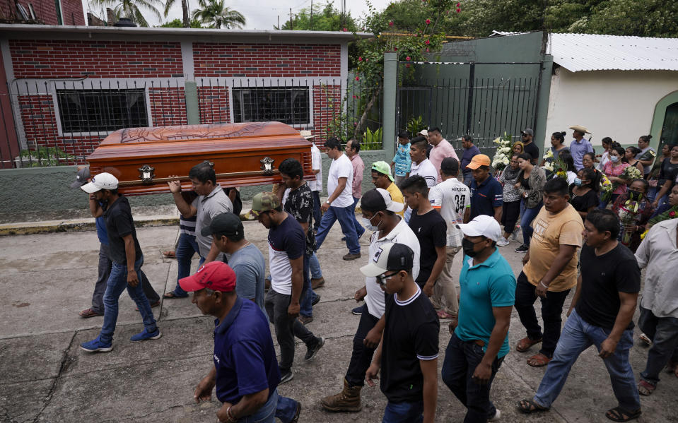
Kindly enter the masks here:
<path id="1" fill-rule="evenodd" d="M 138 234 L 144 270 L 153 287 L 158 292 L 172 290 L 177 265 L 160 251 L 172 248 L 177 228 L 144 227 Z M 245 234 L 267 252 L 266 230 L 261 225 L 245 222 Z M 358 268 L 366 257 L 342 261 L 346 247 L 340 237 L 335 227 L 319 251 L 327 284 L 317 291 L 322 299 L 314 308 L 315 321 L 308 325 L 327 342 L 309 363 L 300 358 L 305 347 L 297 346 L 295 377 L 279 391 L 303 403 L 301 422 L 380 422 L 386 401 L 378 388 L 363 390 L 363 410 L 356 414 L 323 412 L 318 404 L 320 398 L 341 388 L 358 325 L 358 316 L 350 310 L 356 304 L 353 293 L 363 284 Z M 361 239 L 363 252 L 367 251 L 366 238 Z M 518 274 L 522 256 L 513 252 L 515 246 L 513 242 L 501 252 Z M 132 343 L 129 337 L 141 330 L 141 318 L 123 294 L 114 350 L 90 355 L 79 349 L 81 342 L 98 334 L 103 321 L 102 317 L 78 317 L 78 311 L 90 305 L 97 259 L 95 232 L 0 237 L 0 318 L 4 323 L 0 326 L 0 421 L 214 423 L 218 402 L 195 405 L 192 401 L 194 386 L 211 366 L 214 323 L 211 317 L 201 316 L 188 299 L 165 300 L 153 309 L 163 338 Z M 455 267 L 460 268 L 460 258 Z M 512 347 L 523 336 L 514 311 Z M 443 322 L 438 367 L 442 367 L 449 338 Z M 643 370 L 647 351 L 639 342 L 631 350 L 636 377 Z M 604 411 L 616 406 L 616 401 L 604 365 L 592 348 L 574 365 L 551 412 L 534 416 L 517 412 L 515 402 L 531 397 L 544 374 L 543 368 L 527 366 L 528 356 L 510 352 L 493 383 L 492 398 L 503 413 L 501 421 L 608 421 Z M 662 374 L 657 391 L 642 398 L 641 421 L 678 422 L 674 413 L 677 393 L 678 379 Z M 436 421 L 461 422 L 463 416 L 462 405 L 439 381 Z"/>

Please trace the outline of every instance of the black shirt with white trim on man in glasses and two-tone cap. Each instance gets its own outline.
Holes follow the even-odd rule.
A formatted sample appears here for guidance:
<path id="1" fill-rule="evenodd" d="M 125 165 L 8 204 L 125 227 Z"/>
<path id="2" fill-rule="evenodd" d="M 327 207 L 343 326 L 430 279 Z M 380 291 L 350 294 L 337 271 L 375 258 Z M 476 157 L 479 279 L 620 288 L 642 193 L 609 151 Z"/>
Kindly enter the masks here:
<path id="1" fill-rule="evenodd" d="M 421 290 L 406 302 L 386 296 L 381 391 L 393 403 L 423 400 L 419 360 L 438 358 L 440 321 Z"/>

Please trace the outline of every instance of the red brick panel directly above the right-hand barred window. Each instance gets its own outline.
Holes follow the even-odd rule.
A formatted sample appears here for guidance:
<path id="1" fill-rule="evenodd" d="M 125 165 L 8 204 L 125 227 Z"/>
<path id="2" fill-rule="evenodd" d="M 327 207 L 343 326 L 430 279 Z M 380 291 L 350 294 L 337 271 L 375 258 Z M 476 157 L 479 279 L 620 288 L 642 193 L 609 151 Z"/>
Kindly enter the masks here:
<path id="1" fill-rule="evenodd" d="M 337 44 L 194 42 L 193 61 L 196 77 L 339 77 L 341 47 Z"/>

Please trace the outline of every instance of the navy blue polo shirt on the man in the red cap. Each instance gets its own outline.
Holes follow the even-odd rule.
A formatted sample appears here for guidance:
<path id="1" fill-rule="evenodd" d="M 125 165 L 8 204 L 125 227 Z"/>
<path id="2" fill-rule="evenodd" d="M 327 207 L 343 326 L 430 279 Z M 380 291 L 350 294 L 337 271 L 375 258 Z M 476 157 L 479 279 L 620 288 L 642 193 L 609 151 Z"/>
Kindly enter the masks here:
<path id="1" fill-rule="evenodd" d="M 216 397 L 235 404 L 266 388 L 270 397 L 280 382 L 280 369 L 264 312 L 238 297 L 223 321 L 214 324 Z"/>

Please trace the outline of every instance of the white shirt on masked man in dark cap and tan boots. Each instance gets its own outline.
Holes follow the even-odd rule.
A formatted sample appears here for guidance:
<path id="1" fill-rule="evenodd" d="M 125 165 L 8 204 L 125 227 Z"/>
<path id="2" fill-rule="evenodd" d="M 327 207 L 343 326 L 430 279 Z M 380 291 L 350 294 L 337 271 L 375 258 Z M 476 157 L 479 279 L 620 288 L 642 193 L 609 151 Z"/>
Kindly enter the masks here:
<path id="1" fill-rule="evenodd" d="M 370 237 L 370 260 L 375 260 L 375 254 L 379 251 L 379 247 L 388 242 L 405 244 L 414 251 L 412 278 L 416 279 L 419 275 L 419 255 L 421 254 L 421 250 L 419 249 L 419 239 L 416 239 L 416 235 L 407 225 L 407 222 L 400 218 L 400 222 L 391 232 L 385 237 L 380 238 L 380 236 L 381 231 L 374 232 L 372 237 Z M 377 283 L 377 278 L 365 278 L 365 287 L 367 290 L 365 303 L 367 304 L 368 311 L 370 311 L 372 316 L 381 318 L 386 311 L 386 298 L 384 292 Z"/>

